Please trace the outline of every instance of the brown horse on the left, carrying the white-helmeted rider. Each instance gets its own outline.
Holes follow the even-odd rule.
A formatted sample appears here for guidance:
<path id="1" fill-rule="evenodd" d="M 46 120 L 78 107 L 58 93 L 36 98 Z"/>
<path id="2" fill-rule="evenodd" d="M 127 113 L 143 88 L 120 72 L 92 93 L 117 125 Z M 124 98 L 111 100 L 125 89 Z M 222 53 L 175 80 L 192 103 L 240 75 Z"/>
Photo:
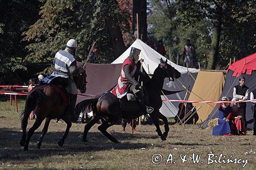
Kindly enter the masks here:
<path id="1" fill-rule="evenodd" d="M 75 79 L 75 84 L 77 88 L 81 92 L 86 91 L 86 70 L 85 67 L 79 67 L 79 74 L 77 79 Z M 67 97 L 67 96 L 66 96 Z M 26 134 L 26 128 L 28 125 L 28 117 L 30 112 L 34 110 L 36 114 L 36 120 L 34 125 L 29 129 L 28 136 Z M 25 109 L 22 112 L 22 130 L 23 135 L 20 140 L 20 145 L 24 147 L 24 150 L 28 150 L 28 145 L 31 136 L 34 131 L 41 125 L 42 121 L 46 118 L 44 129 L 42 130 L 42 134 L 37 141 L 37 148 L 39 149 L 41 146 L 42 139 L 47 133 L 48 126 L 52 118 L 61 118 L 66 124 L 67 128 L 62 138 L 59 140 L 58 145 L 62 147 L 65 139 L 68 136 L 69 129 L 72 125 L 69 116 L 66 113 L 67 104 L 63 102 L 63 99 L 56 91 L 53 85 L 38 85 L 35 86 L 27 95 Z"/>

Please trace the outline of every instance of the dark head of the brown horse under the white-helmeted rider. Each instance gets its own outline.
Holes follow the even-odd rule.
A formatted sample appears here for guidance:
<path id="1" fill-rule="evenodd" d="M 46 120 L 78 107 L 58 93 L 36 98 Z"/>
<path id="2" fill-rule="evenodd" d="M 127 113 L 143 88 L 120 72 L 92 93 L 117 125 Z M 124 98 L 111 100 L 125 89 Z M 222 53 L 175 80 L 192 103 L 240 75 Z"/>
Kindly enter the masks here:
<path id="1" fill-rule="evenodd" d="M 86 85 L 87 85 L 87 81 L 86 81 L 86 67 L 78 67 L 78 74 L 77 74 L 77 78 L 75 79 L 75 84 L 76 87 L 81 91 L 81 93 L 86 92 Z"/>

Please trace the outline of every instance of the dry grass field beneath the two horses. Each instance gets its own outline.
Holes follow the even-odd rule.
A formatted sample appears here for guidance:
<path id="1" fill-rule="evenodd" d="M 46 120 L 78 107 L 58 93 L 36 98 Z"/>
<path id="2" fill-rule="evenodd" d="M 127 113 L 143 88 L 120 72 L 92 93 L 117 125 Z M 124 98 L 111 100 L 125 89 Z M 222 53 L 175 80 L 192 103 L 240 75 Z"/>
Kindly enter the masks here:
<path id="1" fill-rule="evenodd" d="M 19 111 L 24 108 L 24 102 L 24 100 L 18 101 Z M 34 120 L 29 120 L 28 128 L 33 123 Z M 252 135 L 252 131 L 246 136 L 223 137 L 212 136 L 212 131 L 199 129 L 197 125 L 185 127 L 170 125 L 167 140 L 161 141 L 155 132 L 155 126 L 137 126 L 137 132 L 132 135 L 131 127 L 126 127 L 126 131 L 121 132 L 121 126 L 115 125 L 109 131 L 115 130 L 115 137 L 121 142 L 116 144 L 103 136 L 95 125 L 89 131 L 89 142 L 84 143 L 81 141 L 84 124 L 73 124 L 64 146 L 60 148 L 57 142 L 65 131 L 66 124 L 55 123 L 52 120 L 41 150 L 36 150 L 36 141 L 42 127 L 41 125 L 32 136 L 30 150 L 23 151 L 19 145 L 22 136 L 19 113 L 16 113 L 15 106 L 10 107 L 8 101 L 0 102 L 0 169 L 255 169 L 256 167 L 256 137 Z M 163 126 L 161 128 L 163 129 Z M 201 155 L 199 163 L 193 163 L 193 153 Z M 162 155 L 161 163 L 157 162 L 160 161 L 160 156 L 159 159 L 157 157 L 153 159 L 159 164 L 152 162 L 154 154 Z M 223 154 L 222 158 L 220 158 L 221 154 Z M 214 157 L 210 158 L 212 155 Z M 186 161 L 182 163 L 181 157 Z M 218 161 L 219 158 L 222 163 L 211 163 L 214 160 Z M 240 160 L 236 164 L 223 163 L 223 160 L 227 161 L 228 158 Z"/>

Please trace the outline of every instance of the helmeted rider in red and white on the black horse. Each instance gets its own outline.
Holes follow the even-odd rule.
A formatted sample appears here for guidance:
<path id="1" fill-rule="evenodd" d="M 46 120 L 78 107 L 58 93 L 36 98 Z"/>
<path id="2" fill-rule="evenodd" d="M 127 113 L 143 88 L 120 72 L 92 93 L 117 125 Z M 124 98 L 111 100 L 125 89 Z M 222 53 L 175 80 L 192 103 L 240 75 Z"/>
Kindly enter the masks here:
<path id="1" fill-rule="evenodd" d="M 140 71 L 136 71 L 137 69 L 136 63 L 139 61 L 140 51 L 141 50 L 139 50 L 138 48 L 135 48 L 135 47 L 131 48 L 129 57 L 127 57 L 123 62 L 121 76 L 118 79 L 117 86 L 111 92 L 114 95 L 116 95 L 117 98 L 119 99 L 122 99 L 123 96 L 127 94 L 127 92 L 128 93 L 129 91 L 133 92 L 136 95 L 137 99 L 139 100 L 141 107 L 142 108 L 146 107 L 147 113 L 152 113 L 154 109 L 146 105 L 147 100 L 144 99 L 146 95 L 143 94 L 142 87 L 134 79 L 135 72 L 138 72 L 141 76 L 143 76 L 143 74 L 141 74 Z M 129 87 L 130 87 L 130 90 L 129 90 Z M 127 95 L 128 100 L 130 100 L 129 99 L 130 96 L 131 95 Z"/>

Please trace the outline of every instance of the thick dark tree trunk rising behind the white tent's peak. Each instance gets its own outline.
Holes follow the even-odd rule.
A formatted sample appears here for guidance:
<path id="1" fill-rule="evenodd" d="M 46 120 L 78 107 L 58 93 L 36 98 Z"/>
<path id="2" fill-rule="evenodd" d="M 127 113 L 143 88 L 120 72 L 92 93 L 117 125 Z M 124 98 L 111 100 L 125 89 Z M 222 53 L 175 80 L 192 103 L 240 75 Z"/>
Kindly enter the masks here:
<path id="1" fill-rule="evenodd" d="M 133 0 L 133 34 L 137 38 L 137 16 L 139 22 L 139 39 L 147 41 L 147 23 L 146 23 L 146 0 Z M 136 34 L 135 34 L 136 33 Z"/>

